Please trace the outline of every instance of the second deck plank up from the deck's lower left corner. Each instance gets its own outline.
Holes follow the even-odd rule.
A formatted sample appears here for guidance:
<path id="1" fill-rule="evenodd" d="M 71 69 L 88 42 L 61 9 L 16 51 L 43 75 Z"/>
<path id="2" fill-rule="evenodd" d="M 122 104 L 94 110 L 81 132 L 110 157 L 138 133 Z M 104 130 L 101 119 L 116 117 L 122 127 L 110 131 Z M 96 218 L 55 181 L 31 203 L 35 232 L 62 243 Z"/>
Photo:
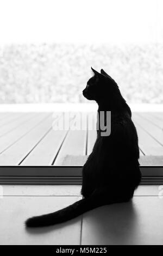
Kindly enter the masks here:
<path id="1" fill-rule="evenodd" d="M 4 135 L 0 138 L 0 153 L 9 148 L 12 144 L 18 141 L 21 137 L 26 135 L 31 129 L 39 124 L 44 118 L 47 118 L 49 113 L 39 113 L 36 116 L 32 114 L 32 118 L 26 123 L 18 126 L 14 131 Z"/>

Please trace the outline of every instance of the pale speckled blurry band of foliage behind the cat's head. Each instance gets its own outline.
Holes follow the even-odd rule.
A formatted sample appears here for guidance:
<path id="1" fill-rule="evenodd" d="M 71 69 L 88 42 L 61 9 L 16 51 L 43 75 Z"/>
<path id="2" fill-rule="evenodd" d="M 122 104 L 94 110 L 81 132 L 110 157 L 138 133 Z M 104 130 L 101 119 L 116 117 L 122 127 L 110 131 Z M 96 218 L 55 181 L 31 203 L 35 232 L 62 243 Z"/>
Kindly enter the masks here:
<path id="1" fill-rule="evenodd" d="M 163 44 L 8 44 L 0 49 L 0 103 L 82 103 L 91 66 L 130 103 L 163 103 Z"/>

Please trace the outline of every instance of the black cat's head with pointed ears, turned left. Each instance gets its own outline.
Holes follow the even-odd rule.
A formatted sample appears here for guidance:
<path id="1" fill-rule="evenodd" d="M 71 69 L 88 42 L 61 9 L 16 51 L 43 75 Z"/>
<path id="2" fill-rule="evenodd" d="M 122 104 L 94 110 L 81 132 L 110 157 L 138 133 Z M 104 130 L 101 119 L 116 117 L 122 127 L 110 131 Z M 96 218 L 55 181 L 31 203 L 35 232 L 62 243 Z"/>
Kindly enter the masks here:
<path id="1" fill-rule="evenodd" d="M 93 76 L 87 81 L 83 90 L 83 95 L 87 100 L 101 102 L 104 100 L 112 101 L 121 96 L 117 83 L 103 69 L 101 73 L 91 68 Z M 122 97 L 122 96 L 121 96 Z"/>

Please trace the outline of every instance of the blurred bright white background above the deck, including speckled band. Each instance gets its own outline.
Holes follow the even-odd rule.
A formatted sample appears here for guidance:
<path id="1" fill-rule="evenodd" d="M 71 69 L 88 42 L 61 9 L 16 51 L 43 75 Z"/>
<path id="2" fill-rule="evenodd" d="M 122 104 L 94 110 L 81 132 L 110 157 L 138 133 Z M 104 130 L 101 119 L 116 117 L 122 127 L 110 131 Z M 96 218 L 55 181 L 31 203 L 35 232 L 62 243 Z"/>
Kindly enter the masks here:
<path id="1" fill-rule="evenodd" d="M 131 103 L 163 103 L 163 1 L 0 1 L 0 103 L 87 102 L 103 68 Z"/>

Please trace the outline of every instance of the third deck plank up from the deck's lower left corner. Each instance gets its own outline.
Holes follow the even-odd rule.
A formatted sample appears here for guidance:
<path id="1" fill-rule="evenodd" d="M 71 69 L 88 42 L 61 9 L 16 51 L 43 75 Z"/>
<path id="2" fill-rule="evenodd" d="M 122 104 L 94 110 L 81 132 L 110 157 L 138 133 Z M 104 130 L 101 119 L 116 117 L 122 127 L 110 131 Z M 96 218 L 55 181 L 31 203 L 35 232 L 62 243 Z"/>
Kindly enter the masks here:
<path id="1" fill-rule="evenodd" d="M 0 137 L 14 131 L 17 127 L 20 127 L 22 124 L 33 118 L 34 115 L 35 113 L 24 113 L 19 118 L 16 118 L 9 123 L 3 125 L 2 127 L 0 127 Z"/>

